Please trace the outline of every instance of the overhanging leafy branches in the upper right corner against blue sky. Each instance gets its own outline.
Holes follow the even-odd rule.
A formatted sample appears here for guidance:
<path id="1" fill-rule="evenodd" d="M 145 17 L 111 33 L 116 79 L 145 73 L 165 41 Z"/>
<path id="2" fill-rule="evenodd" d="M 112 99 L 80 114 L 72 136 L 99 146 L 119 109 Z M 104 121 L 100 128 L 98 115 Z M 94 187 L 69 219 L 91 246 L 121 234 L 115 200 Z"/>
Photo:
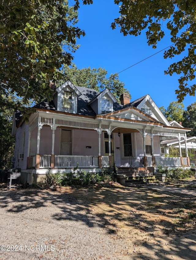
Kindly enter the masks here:
<path id="1" fill-rule="evenodd" d="M 171 35 L 173 45 L 164 52 L 164 58 L 172 58 L 186 50 L 186 56 L 170 65 L 165 74 L 177 73 L 179 89 L 175 90 L 180 102 L 184 97 L 195 95 L 196 65 L 196 1 L 195 0 L 114 0 L 120 4 L 120 16 L 111 24 L 118 25 L 124 35 L 140 35 L 145 30 L 147 43 L 156 48 L 164 35 Z"/>

